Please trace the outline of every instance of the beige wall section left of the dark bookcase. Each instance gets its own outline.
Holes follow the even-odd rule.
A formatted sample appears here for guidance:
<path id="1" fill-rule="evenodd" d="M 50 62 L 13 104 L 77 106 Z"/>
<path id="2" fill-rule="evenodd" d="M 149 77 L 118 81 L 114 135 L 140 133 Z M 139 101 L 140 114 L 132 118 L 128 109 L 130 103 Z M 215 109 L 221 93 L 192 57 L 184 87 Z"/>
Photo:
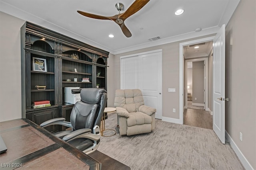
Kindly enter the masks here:
<path id="1" fill-rule="evenodd" d="M 0 122 L 21 118 L 20 27 L 24 23 L 0 12 Z"/>

